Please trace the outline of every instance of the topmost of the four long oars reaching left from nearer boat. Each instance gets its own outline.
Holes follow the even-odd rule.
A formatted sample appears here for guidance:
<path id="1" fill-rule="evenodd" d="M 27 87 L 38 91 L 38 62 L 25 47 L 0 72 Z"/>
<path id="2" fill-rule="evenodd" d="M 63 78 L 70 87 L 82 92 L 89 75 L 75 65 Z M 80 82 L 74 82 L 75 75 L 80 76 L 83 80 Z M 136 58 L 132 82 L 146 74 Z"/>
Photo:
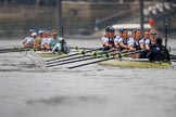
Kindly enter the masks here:
<path id="1" fill-rule="evenodd" d="M 55 61 L 55 60 L 60 60 L 60 58 L 71 57 L 71 56 L 74 56 L 74 55 L 86 54 L 86 53 L 88 53 L 88 52 L 92 52 L 92 51 L 97 51 L 97 50 L 102 50 L 102 48 L 95 49 L 95 50 L 88 50 L 88 51 L 84 50 L 84 51 L 80 51 L 80 52 L 78 52 L 78 53 L 74 53 L 74 54 L 70 54 L 70 55 L 66 55 L 66 56 L 61 56 L 61 57 L 51 58 L 51 60 L 48 60 L 48 61 L 46 61 L 46 62 L 48 63 L 48 62 Z"/>

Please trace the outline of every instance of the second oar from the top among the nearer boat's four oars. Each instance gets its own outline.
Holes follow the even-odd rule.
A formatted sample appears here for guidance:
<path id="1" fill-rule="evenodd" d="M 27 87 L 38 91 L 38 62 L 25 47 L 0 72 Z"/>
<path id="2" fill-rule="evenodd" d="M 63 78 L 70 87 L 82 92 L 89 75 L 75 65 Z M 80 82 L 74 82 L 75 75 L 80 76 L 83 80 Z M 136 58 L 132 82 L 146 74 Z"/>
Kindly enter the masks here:
<path id="1" fill-rule="evenodd" d="M 64 58 L 64 60 L 55 60 L 55 61 L 47 62 L 47 65 L 60 63 L 60 62 L 65 62 L 65 61 L 73 61 L 73 60 L 76 60 L 76 58 L 81 58 L 81 57 L 87 57 L 87 56 L 97 56 L 97 55 L 104 54 L 104 53 L 112 52 L 112 51 L 115 51 L 115 50 L 103 51 L 103 52 L 93 51 L 93 52 L 91 52 L 87 55 L 83 54 L 81 56 L 75 56 L 75 57 L 68 57 L 68 58 Z"/>

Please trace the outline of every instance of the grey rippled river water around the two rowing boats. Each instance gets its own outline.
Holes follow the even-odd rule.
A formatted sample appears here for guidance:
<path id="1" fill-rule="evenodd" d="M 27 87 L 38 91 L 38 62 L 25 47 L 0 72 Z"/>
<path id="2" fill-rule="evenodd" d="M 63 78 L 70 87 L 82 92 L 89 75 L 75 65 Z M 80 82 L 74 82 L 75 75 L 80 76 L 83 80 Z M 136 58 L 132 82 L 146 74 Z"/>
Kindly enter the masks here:
<path id="1" fill-rule="evenodd" d="M 67 40 L 99 48 L 99 40 Z M 176 40 L 169 40 L 176 54 Z M 21 46 L 1 40 L 0 48 Z M 168 69 L 92 64 L 46 68 L 27 52 L 0 53 L 1 117 L 176 117 L 176 64 Z"/>

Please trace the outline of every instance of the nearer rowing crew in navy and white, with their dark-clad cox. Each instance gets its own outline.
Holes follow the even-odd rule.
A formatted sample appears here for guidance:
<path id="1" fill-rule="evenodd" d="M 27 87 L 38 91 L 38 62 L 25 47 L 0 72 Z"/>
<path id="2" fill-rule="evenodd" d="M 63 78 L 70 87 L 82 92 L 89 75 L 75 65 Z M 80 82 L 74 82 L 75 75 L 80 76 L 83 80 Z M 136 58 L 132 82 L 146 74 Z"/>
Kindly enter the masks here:
<path id="1" fill-rule="evenodd" d="M 135 29 L 130 37 L 127 29 L 121 28 L 118 35 L 115 35 L 115 29 L 108 26 L 101 42 L 104 51 L 133 52 L 142 50 L 140 53 L 130 55 L 130 57 L 169 62 L 169 52 L 162 46 L 162 38 L 158 38 L 156 29 L 146 30 L 143 37 L 140 29 Z"/>

